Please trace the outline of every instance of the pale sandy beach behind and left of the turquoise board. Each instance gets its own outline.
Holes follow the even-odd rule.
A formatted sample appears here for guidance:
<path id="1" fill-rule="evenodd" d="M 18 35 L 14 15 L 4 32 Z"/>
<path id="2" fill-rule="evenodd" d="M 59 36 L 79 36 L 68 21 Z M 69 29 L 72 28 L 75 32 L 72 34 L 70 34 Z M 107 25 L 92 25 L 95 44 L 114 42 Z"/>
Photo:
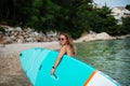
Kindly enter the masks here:
<path id="1" fill-rule="evenodd" d="M 0 86 L 31 86 L 23 72 L 18 55 L 32 47 L 58 49 L 57 42 L 6 44 L 0 46 Z"/>

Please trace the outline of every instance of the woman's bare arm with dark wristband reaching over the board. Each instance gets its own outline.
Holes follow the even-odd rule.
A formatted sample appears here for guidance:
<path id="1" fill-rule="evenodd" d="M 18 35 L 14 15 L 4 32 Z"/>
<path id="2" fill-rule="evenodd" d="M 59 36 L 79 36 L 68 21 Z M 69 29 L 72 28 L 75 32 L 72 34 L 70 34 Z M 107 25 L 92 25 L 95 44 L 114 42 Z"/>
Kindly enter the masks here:
<path id="1" fill-rule="evenodd" d="M 66 53 L 66 49 L 65 49 L 65 46 L 63 46 L 60 51 L 60 54 L 58 56 L 56 57 L 56 60 L 54 62 L 54 66 L 52 67 L 52 70 L 51 70 L 51 74 L 54 73 L 54 70 L 56 69 L 58 62 L 61 61 L 61 58 L 63 57 L 63 55 Z"/>

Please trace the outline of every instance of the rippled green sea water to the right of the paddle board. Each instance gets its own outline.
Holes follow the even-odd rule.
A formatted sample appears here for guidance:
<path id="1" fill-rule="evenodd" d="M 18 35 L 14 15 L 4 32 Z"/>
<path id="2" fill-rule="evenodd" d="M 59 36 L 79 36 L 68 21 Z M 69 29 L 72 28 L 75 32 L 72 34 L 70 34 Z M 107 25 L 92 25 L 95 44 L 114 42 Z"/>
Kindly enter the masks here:
<path id="1" fill-rule="evenodd" d="M 80 44 L 80 46 L 79 46 Z M 130 39 L 77 43 L 77 58 L 130 86 Z"/>

